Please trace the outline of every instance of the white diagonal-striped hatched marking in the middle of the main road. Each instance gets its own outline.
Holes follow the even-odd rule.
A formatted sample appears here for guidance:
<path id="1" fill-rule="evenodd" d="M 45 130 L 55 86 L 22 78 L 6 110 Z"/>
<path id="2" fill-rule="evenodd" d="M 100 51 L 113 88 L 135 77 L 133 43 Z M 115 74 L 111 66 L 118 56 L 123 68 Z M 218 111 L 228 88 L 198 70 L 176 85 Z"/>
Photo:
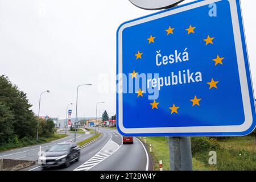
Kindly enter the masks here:
<path id="1" fill-rule="evenodd" d="M 109 158 L 110 155 L 114 154 L 121 146 L 113 142 L 110 138 L 105 146 L 92 158 L 87 160 L 84 164 L 74 169 L 74 171 L 88 171 L 90 168 L 96 166 L 97 164 Z"/>

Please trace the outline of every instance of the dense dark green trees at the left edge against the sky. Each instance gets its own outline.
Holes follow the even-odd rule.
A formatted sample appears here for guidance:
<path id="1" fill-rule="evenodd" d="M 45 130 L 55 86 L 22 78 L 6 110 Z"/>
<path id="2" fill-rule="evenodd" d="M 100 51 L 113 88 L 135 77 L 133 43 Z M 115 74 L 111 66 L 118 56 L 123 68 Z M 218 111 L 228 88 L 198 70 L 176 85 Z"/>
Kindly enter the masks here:
<path id="1" fill-rule="evenodd" d="M 26 93 L 7 76 L 0 76 L 0 146 L 36 138 L 39 118 L 31 106 Z M 39 119 L 39 137 L 51 137 L 54 129 L 52 119 Z"/>

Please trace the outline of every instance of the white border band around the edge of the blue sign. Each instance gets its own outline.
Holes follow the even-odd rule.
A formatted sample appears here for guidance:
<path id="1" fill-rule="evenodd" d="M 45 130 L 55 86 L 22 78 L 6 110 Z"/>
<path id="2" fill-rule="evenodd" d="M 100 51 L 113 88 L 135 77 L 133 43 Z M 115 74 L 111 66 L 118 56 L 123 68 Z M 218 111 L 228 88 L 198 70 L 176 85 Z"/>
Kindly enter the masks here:
<path id="1" fill-rule="evenodd" d="M 216 3 L 222 0 L 205 0 L 198 3 L 193 3 L 188 6 L 183 6 L 171 11 L 166 11 L 153 16 L 148 16 L 143 19 L 136 20 L 134 22 L 123 24 L 118 31 L 118 73 L 122 73 L 122 31 L 131 26 L 149 22 L 158 18 L 163 18 L 172 14 L 180 13 L 197 7 L 209 5 L 210 3 Z M 238 72 L 240 76 L 243 110 L 245 113 L 245 121 L 242 125 L 234 126 L 189 126 L 189 127 L 147 127 L 147 128 L 125 128 L 123 126 L 123 100 L 122 100 L 122 88 L 119 88 L 118 93 L 118 125 L 119 129 L 125 134 L 166 134 L 166 133 L 237 133 L 244 132 L 250 129 L 253 123 L 253 114 L 251 112 L 251 103 L 249 88 L 247 83 L 245 60 L 243 55 L 242 38 L 240 31 L 240 24 L 237 12 L 236 0 L 228 0 L 230 3 L 230 10 L 232 14 L 232 24 L 234 30 L 234 40 L 236 44 Z M 120 92 L 121 91 L 121 92 Z"/>

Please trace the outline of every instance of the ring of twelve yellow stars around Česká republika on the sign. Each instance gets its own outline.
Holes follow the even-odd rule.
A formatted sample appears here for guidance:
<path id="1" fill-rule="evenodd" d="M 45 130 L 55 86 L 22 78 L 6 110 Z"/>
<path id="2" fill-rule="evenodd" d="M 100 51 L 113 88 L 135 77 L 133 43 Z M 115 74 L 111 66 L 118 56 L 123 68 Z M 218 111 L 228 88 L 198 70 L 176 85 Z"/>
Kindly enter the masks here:
<path id="1" fill-rule="evenodd" d="M 174 30 L 175 28 L 174 27 L 171 27 L 169 26 L 165 31 L 167 32 L 167 36 L 169 36 L 170 34 L 174 34 Z M 190 34 L 195 34 L 195 30 L 196 30 L 196 27 L 192 26 L 191 24 L 189 25 L 188 28 L 185 29 L 185 31 L 187 31 L 187 35 L 190 35 Z M 151 43 L 155 43 L 155 39 L 156 37 L 153 36 L 152 34 L 150 34 L 150 37 L 147 38 L 147 41 L 148 41 L 148 44 L 151 44 Z M 214 37 L 211 37 L 210 35 L 207 36 L 206 39 L 203 39 L 204 42 L 205 42 L 205 46 L 208 46 L 209 44 L 214 44 Z M 138 59 L 142 59 L 142 55 L 143 55 L 143 52 L 140 52 L 138 51 L 135 56 L 136 56 L 136 60 Z M 217 65 L 223 65 L 223 60 L 225 59 L 225 57 L 220 57 L 219 55 L 216 56 L 215 59 L 212 59 L 212 61 L 215 62 L 214 66 L 216 67 Z M 135 70 L 133 71 L 133 73 L 130 73 L 131 75 L 131 78 L 137 78 L 138 76 L 138 72 L 136 72 Z M 210 82 L 207 82 L 207 84 L 209 85 L 209 89 L 218 89 L 217 87 L 217 84 L 218 84 L 219 81 L 216 81 L 212 78 L 212 80 Z M 141 90 L 141 88 L 139 88 L 139 90 L 136 92 L 137 93 L 137 97 L 143 97 L 143 93 L 144 93 L 144 90 Z M 195 107 L 195 106 L 199 106 L 200 107 L 200 101 L 202 100 L 202 98 L 197 98 L 197 96 L 194 96 L 193 98 L 191 98 L 191 101 L 192 102 L 192 107 Z M 151 109 L 158 109 L 158 105 L 160 103 L 159 102 L 156 102 L 154 100 L 154 102 L 150 103 L 151 105 Z M 171 107 L 169 107 L 169 109 L 171 110 L 171 114 L 178 114 L 178 109 L 180 107 L 179 106 L 176 106 L 175 104 L 173 104 Z"/>

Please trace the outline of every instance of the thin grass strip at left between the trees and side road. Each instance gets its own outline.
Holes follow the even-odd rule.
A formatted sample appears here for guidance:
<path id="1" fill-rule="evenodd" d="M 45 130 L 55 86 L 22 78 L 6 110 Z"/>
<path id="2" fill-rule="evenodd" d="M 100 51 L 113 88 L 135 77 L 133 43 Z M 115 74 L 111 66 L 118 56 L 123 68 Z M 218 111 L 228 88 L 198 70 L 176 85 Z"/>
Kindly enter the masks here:
<path id="1" fill-rule="evenodd" d="M 53 134 L 52 137 L 39 137 L 39 140 L 36 141 L 36 139 L 31 139 L 31 138 L 23 138 L 17 140 L 15 143 L 6 143 L 0 146 L 0 151 L 5 151 L 5 150 L 11 150 L 15 148 L 22 148 L 22 147 L 28 147 L 28 146 L 34 146 L 36 144 L 42 144 L 42 143 L 47 143 L 47 142 L 52 142 L 53 140 L 57 140 L 60 138 L 68 137 L 68 135 L 65 134 Z"/>

